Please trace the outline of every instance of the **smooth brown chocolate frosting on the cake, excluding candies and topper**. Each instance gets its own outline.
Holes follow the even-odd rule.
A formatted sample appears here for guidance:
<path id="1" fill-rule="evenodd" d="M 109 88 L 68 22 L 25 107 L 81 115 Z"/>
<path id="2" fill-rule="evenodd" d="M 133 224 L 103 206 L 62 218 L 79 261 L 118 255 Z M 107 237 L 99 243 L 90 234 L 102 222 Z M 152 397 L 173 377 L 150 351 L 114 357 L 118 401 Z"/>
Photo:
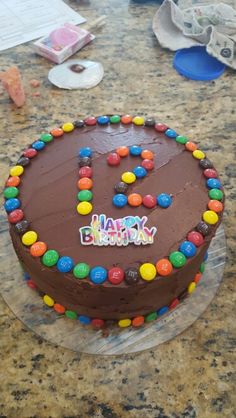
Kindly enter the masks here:
<path id="1" fill-rule="evenodd" d="M 155 168 L 148 175 L 129 186 L 129 193 L 173 196 L 172 205 L 163 209 L 140 206 L 112 205 L 114 186 L 121 174 L 141 164 L 140 157 L 122 158 L 118 167 L 107 164 L 110 151 L 121 145 L 142 145 L 154 152 Z M 114 219 L 128 215 L 148 217 L 147 226 L 155 226 L 154 243 L 146 246 L 97 247 L 80 243 L 79 228 L 89 225 L 92 213 L 79 215 L 76 211 L 78 152 L 81 147 L 93 150 L 93 212 Z M 203 170 L 185 147 L 175 140 L 157 133 L 150 127 L 134 125 L 85 126 L 55 138 L 40 151 L 27 166 L 22 176 L 20 197 L 25 218 L 48 249 L 73 258 L 75 263 L 85 262 L 91 267 L 101 265 L 107 269 L 119 266 L 138 268 L 145 262 L 156 263 L 177 250 L 206 210 L 208 191 Z M 72 273 L 62 274 L 56 267 L 45 267 L 33 258 L 29 249 L 11 228 L 11 236 L 18 257 L 39 289 L 50 295 L 67 309 L 103 319 L 134 317 L 169 304 L 182 293 L 199 270 L 204 253 L 216 228 L 205 238 L 195 257 L 168 277 L 157 277 L 152 282 L 142 279 L 137 284 L 93 284 L 88 278 L 76 279 Z"/>

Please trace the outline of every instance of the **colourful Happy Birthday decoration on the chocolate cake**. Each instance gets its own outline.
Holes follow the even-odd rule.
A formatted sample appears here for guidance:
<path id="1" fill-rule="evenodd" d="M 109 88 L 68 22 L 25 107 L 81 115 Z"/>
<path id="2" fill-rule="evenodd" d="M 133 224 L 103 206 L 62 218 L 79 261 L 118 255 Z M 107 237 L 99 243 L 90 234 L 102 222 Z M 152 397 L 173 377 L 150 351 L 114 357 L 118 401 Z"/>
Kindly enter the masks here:
<path id="1" fill-rule="evenodd" d="M 81 244 L 119 247 L 129 244 L 153 244 L 157 229 L 155 226 L 151 228 L 145 226 L 147 220 L 147 216 L 113 219 L 107 218 L 104 214 L 94 214 L 90 225 L 79 229 Z"/>

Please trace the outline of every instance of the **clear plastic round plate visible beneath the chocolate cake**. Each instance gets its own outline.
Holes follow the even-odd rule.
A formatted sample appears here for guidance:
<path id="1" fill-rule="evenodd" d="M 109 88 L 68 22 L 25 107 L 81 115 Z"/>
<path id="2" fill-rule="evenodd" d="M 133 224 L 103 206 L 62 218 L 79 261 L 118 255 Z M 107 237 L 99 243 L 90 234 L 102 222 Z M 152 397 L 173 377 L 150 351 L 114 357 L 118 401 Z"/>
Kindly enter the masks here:
<path id="1" fill-rule="evenodd" d="M 206 269 L 196 290 L 174 310 L 141 328 L 111 327 L 107 333 L 59 316 L 43 304 L 37 291 L 23 280 L 23 272 L 11 244 L 8 223 L 1 211 L 0 292 L 10 309 L 28 328 L 45 340 L 79 353 L 121 355 L 158 346 L 180 334 L 205 311 L 220 285 L 226 257 L 223 226 L 209 248 Z"/>

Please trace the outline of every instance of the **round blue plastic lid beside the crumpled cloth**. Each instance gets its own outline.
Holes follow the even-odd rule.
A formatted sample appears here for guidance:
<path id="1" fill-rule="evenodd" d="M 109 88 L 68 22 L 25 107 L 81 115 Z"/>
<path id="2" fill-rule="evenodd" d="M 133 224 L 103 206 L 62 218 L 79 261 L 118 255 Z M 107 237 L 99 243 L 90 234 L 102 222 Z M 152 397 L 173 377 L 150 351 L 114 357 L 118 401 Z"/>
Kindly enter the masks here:
<path id="1" fill-rule="evenodd" d="M 205 46 L 180 49 L 174 56 L 173 66 L 191 80 L 214 80 L 225 70 L 225 65 L 209 55 Z"/>

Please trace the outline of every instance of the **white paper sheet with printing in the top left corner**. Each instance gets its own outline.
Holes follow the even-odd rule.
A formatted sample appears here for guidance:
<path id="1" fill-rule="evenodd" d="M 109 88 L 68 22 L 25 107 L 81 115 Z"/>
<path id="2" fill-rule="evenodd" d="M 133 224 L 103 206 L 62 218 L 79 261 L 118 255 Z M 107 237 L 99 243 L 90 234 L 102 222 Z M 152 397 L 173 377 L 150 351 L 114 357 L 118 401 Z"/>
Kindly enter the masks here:
<path id="1" fill-rule="evenodd" d="M 61 0 L 0 0 L 0 51 L 85 21 Z"/>

